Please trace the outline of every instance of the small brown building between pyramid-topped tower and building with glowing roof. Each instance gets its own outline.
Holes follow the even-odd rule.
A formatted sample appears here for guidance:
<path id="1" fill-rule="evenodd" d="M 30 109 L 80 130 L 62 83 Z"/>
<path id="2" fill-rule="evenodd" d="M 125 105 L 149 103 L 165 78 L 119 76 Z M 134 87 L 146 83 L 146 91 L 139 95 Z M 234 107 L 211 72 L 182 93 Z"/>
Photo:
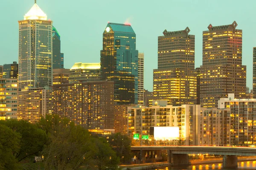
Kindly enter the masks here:
<path id="1" fill-rule="evenodd" d="M 69 83 L 69 71 L 70 69 L 65 68 L 53 69 L 53 85 Z"/>

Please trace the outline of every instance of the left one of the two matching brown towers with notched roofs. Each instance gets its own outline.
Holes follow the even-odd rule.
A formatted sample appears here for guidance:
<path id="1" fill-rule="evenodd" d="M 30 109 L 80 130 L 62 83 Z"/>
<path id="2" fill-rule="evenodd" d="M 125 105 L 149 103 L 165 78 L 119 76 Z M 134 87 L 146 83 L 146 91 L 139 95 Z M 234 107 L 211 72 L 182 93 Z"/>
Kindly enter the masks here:
<path id="1" fill-rule="evenodd" d="M 189 28 L 163 31 L 158 37 L 158 69 L 154 69 L 155 99 L 169 105 L 196 103 L 195 36 Z"/>

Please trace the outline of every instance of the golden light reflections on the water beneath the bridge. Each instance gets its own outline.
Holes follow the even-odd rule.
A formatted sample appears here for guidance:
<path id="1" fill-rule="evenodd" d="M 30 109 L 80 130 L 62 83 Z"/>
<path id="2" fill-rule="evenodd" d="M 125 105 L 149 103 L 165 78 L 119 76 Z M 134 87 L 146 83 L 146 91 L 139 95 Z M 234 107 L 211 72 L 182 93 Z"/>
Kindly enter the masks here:
<path id="1" fill-rule="evenodd" d="M 236 168 L 236 170 L 255 170 L 255 169 L 256 169 L 256 161 L 238 162 L 238 167 Z M 166 168 L 160 168 L 156 170 L 231 170 L 231 169 L 222 169 L 222 163 L 221 164 L 217 163 L 217 164 L 198 164 L 198 165 L 191 165 L 186 167 L 166 167 Z"/>

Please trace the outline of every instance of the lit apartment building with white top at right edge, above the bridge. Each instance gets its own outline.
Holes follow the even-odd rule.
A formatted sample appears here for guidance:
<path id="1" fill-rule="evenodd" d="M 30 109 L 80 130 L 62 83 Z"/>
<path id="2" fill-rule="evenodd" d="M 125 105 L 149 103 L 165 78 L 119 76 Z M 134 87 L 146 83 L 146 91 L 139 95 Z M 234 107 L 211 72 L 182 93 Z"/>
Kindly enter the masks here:
<path id="1" fill-rule="evenodd" d="M 232 145 L 256 144 L 256 99 L 235 99 L 234 94 L 221 98 L 221 109 L 230 109 L 230 142 Z"/>

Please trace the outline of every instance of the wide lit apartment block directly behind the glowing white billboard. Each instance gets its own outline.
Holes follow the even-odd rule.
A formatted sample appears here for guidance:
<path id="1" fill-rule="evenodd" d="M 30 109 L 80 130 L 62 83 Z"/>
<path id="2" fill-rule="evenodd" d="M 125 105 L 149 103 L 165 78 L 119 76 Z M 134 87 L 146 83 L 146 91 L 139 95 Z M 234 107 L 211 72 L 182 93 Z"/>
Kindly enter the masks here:
<path id="1" fill-rule="evenodd" d="M 151 107 L 128 107 L 128 136 L 149 135 L 150 127 L 179 127 L 179 144 L 200 145 L 199 116 L 200 105 L 173 106 L 154 100 Z"/>

